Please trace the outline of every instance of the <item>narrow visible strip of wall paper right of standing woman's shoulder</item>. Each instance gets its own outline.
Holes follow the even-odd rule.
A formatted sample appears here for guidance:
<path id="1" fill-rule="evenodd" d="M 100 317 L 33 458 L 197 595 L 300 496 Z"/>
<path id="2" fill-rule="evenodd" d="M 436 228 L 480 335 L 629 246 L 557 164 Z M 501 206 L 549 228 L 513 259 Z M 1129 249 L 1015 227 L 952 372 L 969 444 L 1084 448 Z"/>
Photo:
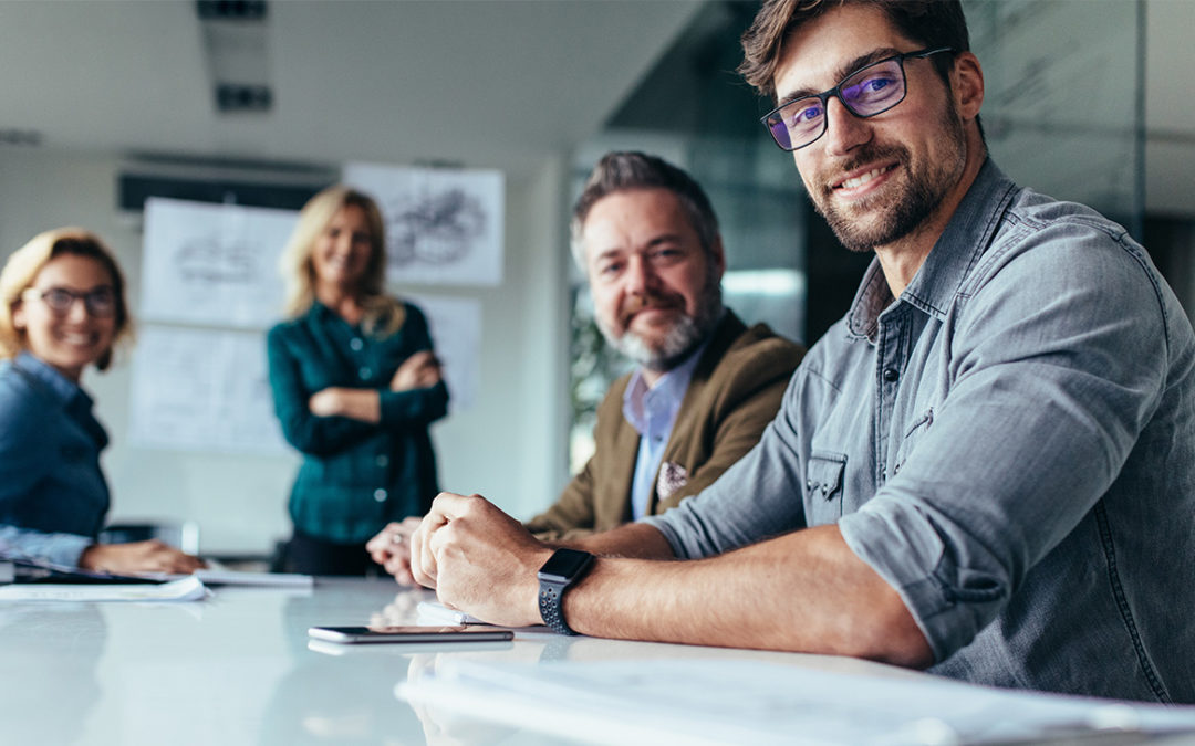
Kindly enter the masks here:
<path id="1" fill-rule="evenodd" d="M 478 369 L 482 354 L 482 303 L 474 298 L 443 295 L 412 295 L 431 327 L 436 357 L 448 384 L 448 408 L 462 412 L 477 401 Z"/>

